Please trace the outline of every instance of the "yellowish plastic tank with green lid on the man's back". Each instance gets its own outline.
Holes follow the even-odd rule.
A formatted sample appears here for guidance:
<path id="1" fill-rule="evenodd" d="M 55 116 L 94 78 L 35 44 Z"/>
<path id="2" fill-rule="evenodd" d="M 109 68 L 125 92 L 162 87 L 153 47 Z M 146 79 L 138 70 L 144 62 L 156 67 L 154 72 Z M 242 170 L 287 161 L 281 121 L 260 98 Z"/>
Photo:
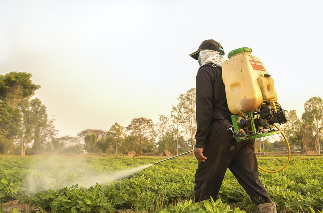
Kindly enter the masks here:
<path id="1" fill-rule="evenodd" d="M 222 67 L 222 78 L 231 113 L 256 110 L 265 100 L 277 100 L 274 79 L 251 48 L 242 47 L 228 54 Z"/>

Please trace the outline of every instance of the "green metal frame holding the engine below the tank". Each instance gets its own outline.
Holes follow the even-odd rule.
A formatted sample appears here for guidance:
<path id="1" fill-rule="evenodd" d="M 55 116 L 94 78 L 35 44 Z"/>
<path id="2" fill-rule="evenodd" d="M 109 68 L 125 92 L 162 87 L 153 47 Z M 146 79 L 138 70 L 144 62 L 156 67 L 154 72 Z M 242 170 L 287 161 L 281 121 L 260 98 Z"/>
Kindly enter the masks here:
<path id="1" fill-rule="evenodd" d="M 255 138 L 259 138 L 259 137 L 266 137 L 266 136 L 271 136 L 271 135 L 275 135 L 275 134 L 279 134 L 281 133 L 280 130 L 273 130 L 273 131 L 268 131 L 268 132 L 257 132 L 257 128 L 255 126 L 255 121 L 254 121 L 254 115 L 253 112 L 246 112 L 244 113 L 245 117 L 250 117 L 250 121 L 251 121 L 251 128 L 253 133 L 252 134 L 246 134 L 246 137 L 241 139 L 238 137 L 234 137 L 236 139 L 237 142 L 241 142 L 244 140 L 250 140 L 250 139 L 255 139 Z M 232 126 L 234 129 L 234 132 L 237 132 L 239 129 L 243 129 L 244 127 L 240 124 L 239 118 L 241 116 L 240 115 L 232 115 L 231 116 L 231 120 L 232 120 Z"/>

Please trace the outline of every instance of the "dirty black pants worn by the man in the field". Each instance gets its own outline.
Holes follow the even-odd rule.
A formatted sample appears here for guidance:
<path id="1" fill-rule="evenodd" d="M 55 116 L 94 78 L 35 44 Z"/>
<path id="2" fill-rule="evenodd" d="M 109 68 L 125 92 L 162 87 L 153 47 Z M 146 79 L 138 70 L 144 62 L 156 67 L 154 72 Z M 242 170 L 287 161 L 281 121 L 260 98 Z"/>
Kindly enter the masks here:
<path id="1" fill-rule="evenodd" d="M 215 121 L 206 138 L 203 155 L 207 160 L 199 162 L 195 173 L 195 202 L 210 197 L 216 199 L 227 168 L 255 205 L 272 202 L 258 178 L 255 140 L 236 142 L 232 132 L 221 121 Z"/>

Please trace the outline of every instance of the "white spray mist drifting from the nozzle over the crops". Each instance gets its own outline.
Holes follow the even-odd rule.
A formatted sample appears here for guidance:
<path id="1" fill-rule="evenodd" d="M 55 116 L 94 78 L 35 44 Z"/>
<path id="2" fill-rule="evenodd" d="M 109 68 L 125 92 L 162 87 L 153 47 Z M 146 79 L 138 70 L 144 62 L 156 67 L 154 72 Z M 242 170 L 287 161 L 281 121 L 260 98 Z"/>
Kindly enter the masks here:
<path id="1" fill-rule="evenodd" d="M 106 184 L 126 178 L 151 165 L 98 173 L 83 158 L 36 157 L 29 167 L 30 171 L 24 185 L 28 193 L 76 184 L 79 187 L 90 187 L 96 183 Z"/>

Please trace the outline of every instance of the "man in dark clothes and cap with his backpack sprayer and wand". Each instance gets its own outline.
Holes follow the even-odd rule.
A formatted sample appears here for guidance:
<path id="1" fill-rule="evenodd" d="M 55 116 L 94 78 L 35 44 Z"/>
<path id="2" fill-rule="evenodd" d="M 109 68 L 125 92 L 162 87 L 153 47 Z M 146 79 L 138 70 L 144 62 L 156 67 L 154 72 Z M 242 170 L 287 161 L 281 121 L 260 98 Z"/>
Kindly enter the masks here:
<path id="1" fill-rule="evenodd" d="M 258 178 L 255 138 L 283 135 L 289 153 L 285 166 L 276 171 L 259 167 L 271 173 L 283 170 L 290 148 L 276 123 L 286 123 L 289 115 L 277 102 L 273 78 L 251 52 L 248 47 L 239 48 L 225 60 L 220 43 L 205 40 L 190 54 L 200 65 L 196 75 L 196 145 L 189 151 L 199 160 L 194 200 L 216 199 L 229 168 L 257 211 L 276 213 L 276 204 Z"/>

